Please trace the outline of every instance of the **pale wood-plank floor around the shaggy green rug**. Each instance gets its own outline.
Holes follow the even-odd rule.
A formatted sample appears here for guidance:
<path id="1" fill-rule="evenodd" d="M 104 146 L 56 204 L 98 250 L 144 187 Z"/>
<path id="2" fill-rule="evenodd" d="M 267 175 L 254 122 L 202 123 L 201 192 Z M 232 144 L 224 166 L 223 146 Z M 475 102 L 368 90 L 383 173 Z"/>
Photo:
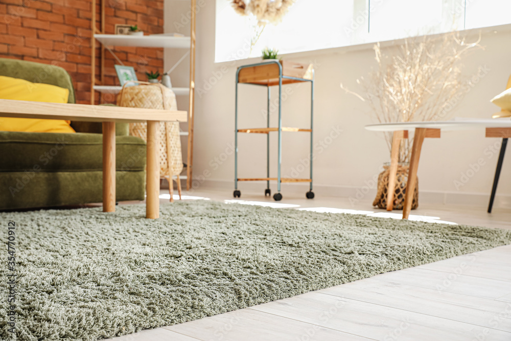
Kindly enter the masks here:
<path id="1" fill-rule="evenodd" d="M 231 200 L 230 194 L 200 191 L 191 195 L 223 201 Z M 162 192 L 161 200 L 167 201 L 164 197 Z M 249 204 L 275 203 L 261 195 L 244 194 L 242 199 Z M 278 204 L 385 214 L 371 209 L 369 202 L 353 206 L 344 198 L 296 196 Z M 423 205 L 412 214 L 430 221 L 511 229 L 511 210 L 498 209 L 489 215 L 485 207 Z M 361 339 L 511 340 L 511 245 L 112 340 Z"/>

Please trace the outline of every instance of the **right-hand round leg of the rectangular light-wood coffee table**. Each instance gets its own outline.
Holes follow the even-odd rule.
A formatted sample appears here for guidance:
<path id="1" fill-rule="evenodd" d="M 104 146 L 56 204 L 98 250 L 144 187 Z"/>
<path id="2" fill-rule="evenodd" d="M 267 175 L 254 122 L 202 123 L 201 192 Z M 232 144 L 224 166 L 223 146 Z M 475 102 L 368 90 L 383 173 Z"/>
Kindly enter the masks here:
<path id="1" fill-rule="evenodd" d="M 147 121 L 146 218 L 149 219 L 159 217 L 159 168 L 159 121 Z"/>

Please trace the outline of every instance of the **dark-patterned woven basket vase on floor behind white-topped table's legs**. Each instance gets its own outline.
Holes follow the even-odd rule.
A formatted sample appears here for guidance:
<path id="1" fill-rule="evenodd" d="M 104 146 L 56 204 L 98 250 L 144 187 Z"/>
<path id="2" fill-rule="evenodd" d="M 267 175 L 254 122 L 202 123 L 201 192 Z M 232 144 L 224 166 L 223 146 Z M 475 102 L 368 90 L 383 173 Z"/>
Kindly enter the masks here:
<path id="1" fill-rule="evenodd" d="M 380 209 L 387 208 L 387 193 L 388 193 L 388 175 L 389 164 L 383 166 L 383 172 L 378 176 L 378 193 L 376 194 L 373 206 Z M 402 210 L 405 203 L 406 183 L 408 181 L 408 164 L 399 164 L 398 171 L 396 172 L 396 186 L 394 187 L 394 203 L 393 210 Z M 412 210 L 419 207 L 419 179 L 413 191 Z"/>

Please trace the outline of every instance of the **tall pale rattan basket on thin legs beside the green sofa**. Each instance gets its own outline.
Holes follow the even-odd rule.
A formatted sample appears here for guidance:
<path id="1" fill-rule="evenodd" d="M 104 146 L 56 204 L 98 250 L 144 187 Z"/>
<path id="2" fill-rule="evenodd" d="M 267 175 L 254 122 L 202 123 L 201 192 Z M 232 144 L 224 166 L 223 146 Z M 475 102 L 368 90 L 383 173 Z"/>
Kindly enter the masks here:
<path id="1" fill-rule="evenodd" d="M 137 82 L 141 85 L 126 86 L 117 97 L 117 105 L 147 109 L 177 110 L 174 92 L 159 83 Z M 130 123 L 129 133 L 147 142 L 147 123 Z M 169 180 L 170 201 L 173 201 L 173 181 L 177 175 L 177 189 L 181 198 L 179 174 L 183 170 L 179 123 L 165 122 L 160 124 L 160 177 Z"/>

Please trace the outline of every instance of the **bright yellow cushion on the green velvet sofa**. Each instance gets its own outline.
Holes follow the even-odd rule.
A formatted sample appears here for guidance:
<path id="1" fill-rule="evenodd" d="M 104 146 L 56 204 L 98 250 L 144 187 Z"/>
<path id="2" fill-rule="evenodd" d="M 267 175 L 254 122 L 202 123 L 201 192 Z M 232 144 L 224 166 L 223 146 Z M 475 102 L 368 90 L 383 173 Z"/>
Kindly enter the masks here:
<path id="1" fill-rule="evenodd" d="M 69 90 L 59 86 L 32 83 L 24 79 L 0 76 L 0 99 L 67 103 Z M 0 130 L 28 132 L 75 132 L 69 121 L 0 117 Z"/>

